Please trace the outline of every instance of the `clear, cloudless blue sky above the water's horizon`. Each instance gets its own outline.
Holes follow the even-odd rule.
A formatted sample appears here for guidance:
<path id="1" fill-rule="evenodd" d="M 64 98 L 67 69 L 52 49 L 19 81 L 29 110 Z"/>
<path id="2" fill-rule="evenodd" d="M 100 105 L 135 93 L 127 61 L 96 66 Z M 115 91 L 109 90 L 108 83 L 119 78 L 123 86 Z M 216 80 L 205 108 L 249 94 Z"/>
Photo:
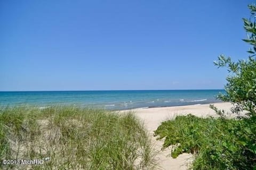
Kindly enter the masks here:
<path id="1" fill-rule="evenodd" d="M 1 1 L 0 91 L 222 89 L 254 1 Z"/>

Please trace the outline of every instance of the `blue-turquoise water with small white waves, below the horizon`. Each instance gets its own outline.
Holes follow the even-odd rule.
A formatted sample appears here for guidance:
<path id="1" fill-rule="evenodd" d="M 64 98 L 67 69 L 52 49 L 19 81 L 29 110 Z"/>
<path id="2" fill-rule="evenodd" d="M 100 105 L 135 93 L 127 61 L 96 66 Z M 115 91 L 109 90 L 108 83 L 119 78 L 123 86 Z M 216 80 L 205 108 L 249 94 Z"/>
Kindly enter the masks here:
<path id="1" fill-rule="evenodd" d="M 224 90 L 0 91 L 0 107 L 53 105 L 124 110 L 217 103 Z"/>

